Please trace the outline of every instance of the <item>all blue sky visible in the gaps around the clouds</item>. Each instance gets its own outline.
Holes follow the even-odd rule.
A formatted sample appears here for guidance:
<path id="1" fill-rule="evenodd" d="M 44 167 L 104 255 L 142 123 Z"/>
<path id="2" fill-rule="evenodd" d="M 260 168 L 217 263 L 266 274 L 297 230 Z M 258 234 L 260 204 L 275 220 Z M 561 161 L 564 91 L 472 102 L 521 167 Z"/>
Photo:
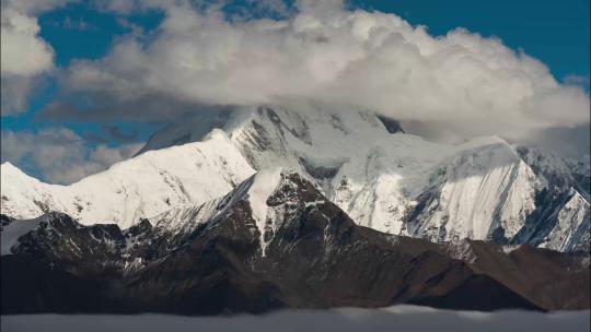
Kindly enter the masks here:
<path id="1" fill-rule="evenodd" d="M 288 3 L 288 7 L 291 4 Z M 232 14 L 248 9 L 248 2 L 235 1 L 224 10 L 227 14 Z M 590 75 L 589 5 L 589 0 L 355 0 L 349 3 L 352 9 L 395 13 L 413 25 L 426 25 L 429 34 L 436 36 L 445 35 L 456 27 L 465 27 L 485 37 L 496 36 L 510 48 L 523 50 L 544 62 L 558 81 L 576 81 L 587 92 Z M 38 16 L 39 36 L 54 49 L 55 66 L 67 69 L 80 59 L 105 57 L 114 43 L 134 28 L 139 27 L 146 36 L 150 36 L 163 17 L 163 12 L 158 10 L 129 14 L 99 11 L 89 2 L 72 3 L 42 13 Z M 66 98 L 59 91 L 57 80 L 56 76 L 43 78 L 40 87 L 28 95 L 26 110 L 2 117 L 2 131 L 35 132 L 59 126 L 88 138 L 104 135 L 106 124 L 117 127 L 118 132 L 129 134 L 139 142 L 162 126 L 116 118 L 109 123 L 39 119 L 36 114 L 40 109 Z M 117 135 L 86 142 L 90 146 L 117 146 L 121 143 Z M 34 167 L 27 170 L 39 175 Z"/>

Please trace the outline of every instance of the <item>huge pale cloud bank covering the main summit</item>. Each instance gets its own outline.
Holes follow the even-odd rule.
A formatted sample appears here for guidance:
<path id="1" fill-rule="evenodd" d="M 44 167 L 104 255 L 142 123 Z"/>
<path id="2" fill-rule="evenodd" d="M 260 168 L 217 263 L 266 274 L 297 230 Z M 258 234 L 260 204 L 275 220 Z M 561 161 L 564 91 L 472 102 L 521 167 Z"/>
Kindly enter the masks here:
<path id="1" fill-rule="evenodd" d="M 175 2 L 154 36 L 130 34 L 104 59 L 76 61 L 63 84 L 119 103 L 160 94 L 206 105 L 373 109 L 463 135 L 589 122 L 582 88 L 497 38 L 462 28 L 433 37 L 338 0 L 297 8 L 282 20 L 232 21 Z"/>

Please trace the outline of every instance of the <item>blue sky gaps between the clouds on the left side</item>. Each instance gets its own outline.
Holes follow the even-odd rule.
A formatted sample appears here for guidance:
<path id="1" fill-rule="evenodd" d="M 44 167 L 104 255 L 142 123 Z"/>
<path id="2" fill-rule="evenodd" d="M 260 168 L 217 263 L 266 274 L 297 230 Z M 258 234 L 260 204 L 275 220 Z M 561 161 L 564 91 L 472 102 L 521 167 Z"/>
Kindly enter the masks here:
<path id="1" fill-rule="evenodd" d="M 127 34 L 130 27 L 121 26 L 118 20 L 137 24 L 147 31 L 155 28 L 162 21 L 163 13 L 148 11 L 132 15 L 117 15 L 113 12 L 101 12 L 89 3 L 72 3 L 46 12 L 38 17 L 39 36 L 46 40 L 55 52 L 55 64 L 67 68 L 72 60 L 100 59 L 111 49 L 118 36 Z M 68 23 L 71 22 L 71 23 Z M 81 23 L 82 22 L 82 23 Z M 53 126 L 67 126 L 78 133 L 95 132 L 100 127 L 94 123 L 54 121 L 35 118 L 38 110 L 58 97 L 56 81 L 48 79 L 43 86 L 30 97 L 28 109 L 16 116 L 2 117 L 2 130 L 38 130 Z M 134 123 L 117 121 L 124 130 L 140 130 L 138 139 L 144 140 L 154 129 L 150 126 L 134 126 Z M 116 145 L 118 142 L 108 142 Z"/>

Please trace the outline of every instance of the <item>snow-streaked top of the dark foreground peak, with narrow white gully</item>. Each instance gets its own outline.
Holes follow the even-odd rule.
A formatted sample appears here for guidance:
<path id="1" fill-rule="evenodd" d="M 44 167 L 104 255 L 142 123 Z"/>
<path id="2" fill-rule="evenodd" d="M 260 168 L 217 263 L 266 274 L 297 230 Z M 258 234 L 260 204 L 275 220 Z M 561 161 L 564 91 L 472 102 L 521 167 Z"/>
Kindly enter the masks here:
<path id="1" fill-rule="evenodd" d="M 316 190 L 306 190 L 300 175 L 293 170 L 281 167 L 269 168 L 245 179 L 234 190 L 222 198 L 218 198 L 196 206 L 171 209 L 154 217 L 148 218 L 161 238 L 169 238 L 170 242 L 183 244 L 186 236 L 198 227 L 208 225 L 216 227 L 220 218 L 228 218 L 229 211 L 239 204 L 248 206 L 248 213 L 240 215 L 240 223 L 246 224 L 250 235 L 258 238 L 258 246 L 264 257 L 267 246 L 271 242 L 275 233 L 281 223 L 291 214 L 301 212 L 314 204 L 325 203 L 323 197 L 316 197 Z M 286 195 L 309 194 L 309 201 L 292 201 Z M 317 199 L 316 199 L 317 198 Z M 166 236 L 162 236 L 162 234 Z"/>

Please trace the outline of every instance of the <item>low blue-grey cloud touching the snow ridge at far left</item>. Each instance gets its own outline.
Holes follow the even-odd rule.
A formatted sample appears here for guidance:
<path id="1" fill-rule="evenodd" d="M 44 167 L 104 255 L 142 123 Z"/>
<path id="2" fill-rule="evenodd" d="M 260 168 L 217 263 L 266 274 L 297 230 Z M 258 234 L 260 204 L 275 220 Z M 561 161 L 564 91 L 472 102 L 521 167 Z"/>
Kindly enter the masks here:
<path id="1" fill-rule="evenodd" d="M 51 183 L 71 183 L 136 154 L 142 144 L 94 149 L 66 128 L 30 131 L 2 131 L 1 161 L 34 169 Z"/>

